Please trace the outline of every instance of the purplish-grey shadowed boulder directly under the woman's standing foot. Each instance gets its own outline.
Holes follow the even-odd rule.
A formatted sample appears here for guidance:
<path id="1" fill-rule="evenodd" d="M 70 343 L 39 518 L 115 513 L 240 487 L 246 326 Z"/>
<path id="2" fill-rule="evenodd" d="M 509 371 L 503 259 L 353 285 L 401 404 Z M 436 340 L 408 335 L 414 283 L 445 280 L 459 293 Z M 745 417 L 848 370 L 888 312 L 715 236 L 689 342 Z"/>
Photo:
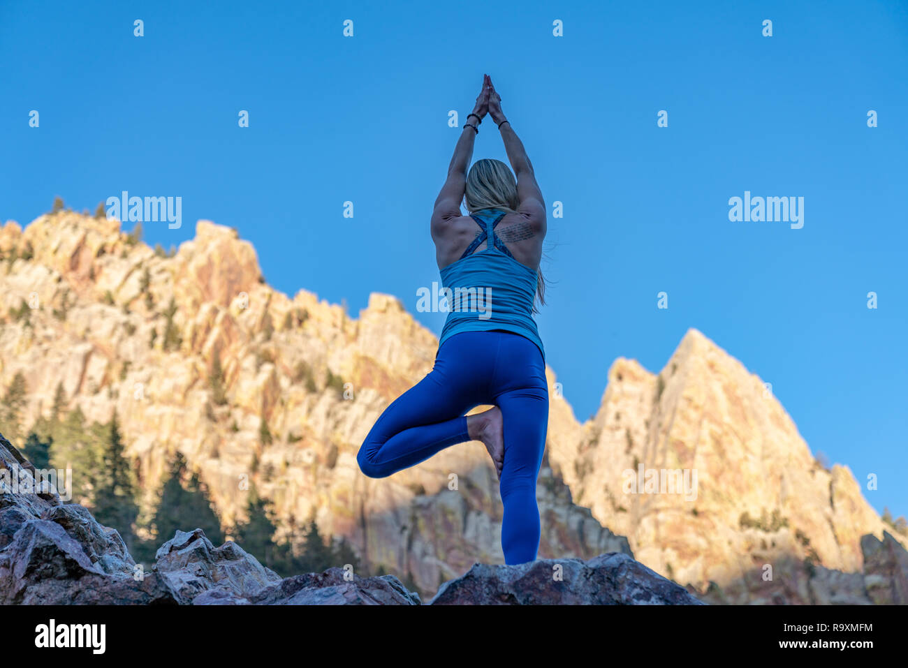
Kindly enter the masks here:
<path id="1" fill-rule="evenodd" d="M 473 565 L 430 605 L 700 605 L 684 587 L 619 552 L 520 565 Z"/>

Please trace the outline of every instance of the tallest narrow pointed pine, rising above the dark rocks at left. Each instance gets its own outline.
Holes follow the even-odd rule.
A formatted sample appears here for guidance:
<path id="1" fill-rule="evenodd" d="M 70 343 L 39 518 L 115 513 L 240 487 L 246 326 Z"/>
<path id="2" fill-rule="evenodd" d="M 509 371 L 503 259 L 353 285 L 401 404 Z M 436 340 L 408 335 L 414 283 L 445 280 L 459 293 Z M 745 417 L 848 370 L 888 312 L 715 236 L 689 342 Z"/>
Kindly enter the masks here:
<path id="1" fill-rule="evenodd" d="M 135 502 L 133 471 L 125 457 L 120 423 L 114 412 L 110 424 L 104 427 L 106 439 L 101 451 L 101 468 L 94 495 L 94 517 L 103 525 L 113 526 L 128 549 L 135 544 L 133 525 L 139 516 Z"/>

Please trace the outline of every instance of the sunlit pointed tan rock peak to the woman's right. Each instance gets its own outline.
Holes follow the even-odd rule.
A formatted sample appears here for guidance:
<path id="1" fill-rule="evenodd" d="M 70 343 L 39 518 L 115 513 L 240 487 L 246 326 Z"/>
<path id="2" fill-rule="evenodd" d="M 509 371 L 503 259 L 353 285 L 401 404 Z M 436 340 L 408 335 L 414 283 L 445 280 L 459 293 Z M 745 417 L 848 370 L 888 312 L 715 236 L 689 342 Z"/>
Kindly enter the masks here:
<path id="1" fill-rule="evenodd" d="M 848 467 L 816 461 L 771 388 L 696 329 L 657 374 L 618 359 L 596 416 L 549 439 L 575 502 L 656 572 L 729 603 L 867 601 L 861 536 L 882 537 L 883 521 Z M 857 577 L 824 584 L 824 571 Z"/>

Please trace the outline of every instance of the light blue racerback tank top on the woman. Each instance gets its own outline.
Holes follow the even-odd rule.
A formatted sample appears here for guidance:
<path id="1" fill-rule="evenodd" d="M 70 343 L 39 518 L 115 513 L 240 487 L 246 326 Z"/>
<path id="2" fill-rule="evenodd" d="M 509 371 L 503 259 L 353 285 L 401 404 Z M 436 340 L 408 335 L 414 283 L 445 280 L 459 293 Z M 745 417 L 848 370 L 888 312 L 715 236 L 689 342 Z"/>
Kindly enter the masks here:
<path id="1" fill-rule="evenodd" d="M 504 217 L 504 211 L 496 209 L 470 214 L 482 233 L 459 260 L 440 270 L 449 313 L 439 347 L 463 331 L 504 329 L 535 343 L 545 360 L 546 351 L 533 319 L 538 273 L 515 260 L 495 236 L 495 227 Z M 474 253 L 483 241 L 488 241 L 486 250 Z"/>

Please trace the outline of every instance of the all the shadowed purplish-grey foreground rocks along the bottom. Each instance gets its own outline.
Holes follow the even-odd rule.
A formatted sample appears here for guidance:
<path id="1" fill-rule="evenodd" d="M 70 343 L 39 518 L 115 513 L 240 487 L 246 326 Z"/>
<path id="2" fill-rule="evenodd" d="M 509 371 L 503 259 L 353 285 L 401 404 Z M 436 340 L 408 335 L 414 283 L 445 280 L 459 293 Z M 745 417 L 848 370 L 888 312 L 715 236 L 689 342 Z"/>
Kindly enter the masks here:
<path id="1" fill-rule="evenodd" d="M 202 529 L 177 531 L 150 573 L 120 535 L 84 507 L 36 485 L 35 468 L 0 436 L 0 604 L 419 605 L 393 575 L 341 567 L 281 578 L 239 545 L 212 545 Z M 35 490 L 40 490 L 40 496 Z M 554 569 L 558 578 L 553 578 Z M 553 580 L 548 585 L 546 577 Z M 557 581 L 556 581 L 557 580 Z M 519 566 L 474 565 L 436 603 L 696 603 L 623 553 Z"/>

